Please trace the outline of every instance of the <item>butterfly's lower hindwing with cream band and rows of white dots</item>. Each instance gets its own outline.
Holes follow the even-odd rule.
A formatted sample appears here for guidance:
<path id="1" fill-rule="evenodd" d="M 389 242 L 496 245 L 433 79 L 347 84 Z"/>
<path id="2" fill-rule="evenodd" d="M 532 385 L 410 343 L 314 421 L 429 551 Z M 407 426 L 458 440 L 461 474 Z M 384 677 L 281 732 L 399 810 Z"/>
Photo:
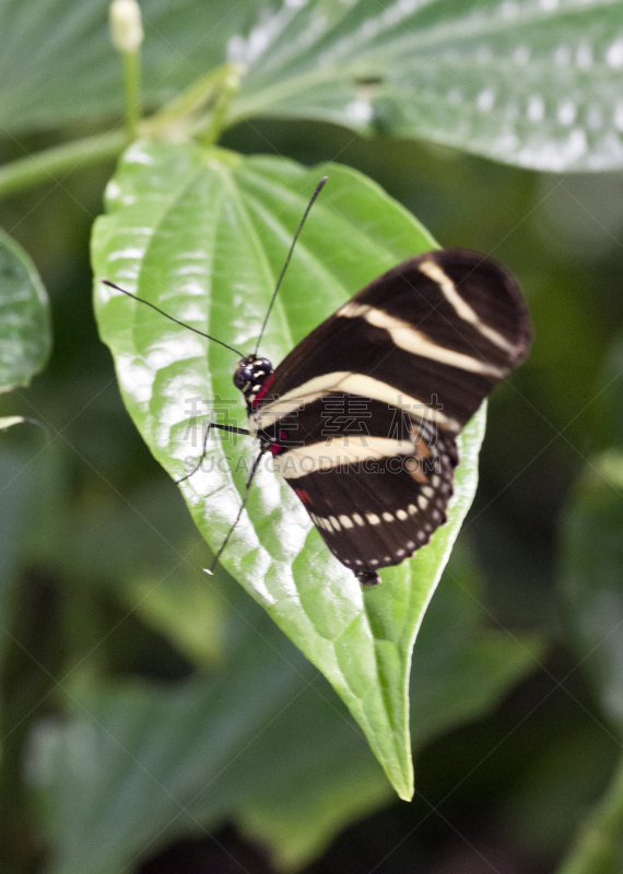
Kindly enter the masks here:
<path id="1" fill-rule="evenodd" d="M 334 403 L 331 397 L 322 400 Z M 409 422 L 407 436 L 341 434 L 285 448 L 274 459 L 331 552 L 374 581 L 379 568 L 399 564 L 428 542 L 446 521 L 452 493 L 454 438 L 402 416 Z M 387 424 L 395 424 L 395 415 L 391 420 Z M 375 424 L 376 416 L 369 422 L 373 430 Z"/>

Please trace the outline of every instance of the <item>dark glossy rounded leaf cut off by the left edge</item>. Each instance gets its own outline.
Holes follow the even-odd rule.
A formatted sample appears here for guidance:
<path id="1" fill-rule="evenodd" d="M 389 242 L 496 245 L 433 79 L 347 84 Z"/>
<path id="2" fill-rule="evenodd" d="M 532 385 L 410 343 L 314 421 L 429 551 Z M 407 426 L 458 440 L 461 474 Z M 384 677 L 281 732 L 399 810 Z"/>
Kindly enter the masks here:
<path id="1" fill-rule="evenodd" d="M 27 386 L 50 347 L 44 284 L 26 252 L 0 229 L 0 391 Z"/>

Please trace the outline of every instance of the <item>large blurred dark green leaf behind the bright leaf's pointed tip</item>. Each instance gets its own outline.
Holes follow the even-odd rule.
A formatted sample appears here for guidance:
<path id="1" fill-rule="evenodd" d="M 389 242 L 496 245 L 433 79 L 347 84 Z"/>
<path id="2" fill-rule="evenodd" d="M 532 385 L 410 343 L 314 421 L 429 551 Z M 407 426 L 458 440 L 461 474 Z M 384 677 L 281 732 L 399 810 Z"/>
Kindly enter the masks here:
<path id="1" fill-rule="evenodd" d="M 152 592 L 160 589 L 160 569 Z M 195 591 L 192 575 L 179 580 Z M 43 723 L 33 760 L 54 874 L 106 874 L 224 817 L 301 865 L 345 824 L 391 801 L 361 731 L 328 684 L 250 599 L 228 602 L 221 665 L 176 688 L 73 688 L 68 716 Z M 152 594 L 149 595 L 151 598 Z M 198 605 L 208 618 L 207 602 Z M 491 708 L 534 664 L 526 637 L 481 628 L 465 557 L 424 619 L 412 693 L 415 749 Z M 179 616 L 171 639 L 179 639 Z M 302 791 L 304 787 L 304 791 Z"/>

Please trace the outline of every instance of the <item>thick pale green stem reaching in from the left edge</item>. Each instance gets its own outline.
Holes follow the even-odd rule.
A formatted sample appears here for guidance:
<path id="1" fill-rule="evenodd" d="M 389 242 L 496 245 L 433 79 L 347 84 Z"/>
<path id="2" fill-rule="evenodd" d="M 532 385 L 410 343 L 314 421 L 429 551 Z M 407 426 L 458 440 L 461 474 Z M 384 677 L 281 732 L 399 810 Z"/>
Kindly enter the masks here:
<path id="1" fill-rule="evenodd" d="M 14 194 L 39 182 L 58 181 L 72 170 L 116 157 L 128 145 L 125 130 L 113 130 L 83 140 L 45 149 L 0 167 L 0 197 Z"/>

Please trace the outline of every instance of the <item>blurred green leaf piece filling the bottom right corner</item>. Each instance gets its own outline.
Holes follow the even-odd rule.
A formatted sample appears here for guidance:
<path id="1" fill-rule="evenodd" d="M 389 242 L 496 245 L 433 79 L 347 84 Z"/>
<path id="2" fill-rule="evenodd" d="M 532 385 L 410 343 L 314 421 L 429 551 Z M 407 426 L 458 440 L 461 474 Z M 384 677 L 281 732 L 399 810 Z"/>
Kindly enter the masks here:
<path id="1" fill-rule="evenodd" d="M 619 874 L 623 849 L 623 756 L 603 799 L 581 827 L 557 874 Z"/>

